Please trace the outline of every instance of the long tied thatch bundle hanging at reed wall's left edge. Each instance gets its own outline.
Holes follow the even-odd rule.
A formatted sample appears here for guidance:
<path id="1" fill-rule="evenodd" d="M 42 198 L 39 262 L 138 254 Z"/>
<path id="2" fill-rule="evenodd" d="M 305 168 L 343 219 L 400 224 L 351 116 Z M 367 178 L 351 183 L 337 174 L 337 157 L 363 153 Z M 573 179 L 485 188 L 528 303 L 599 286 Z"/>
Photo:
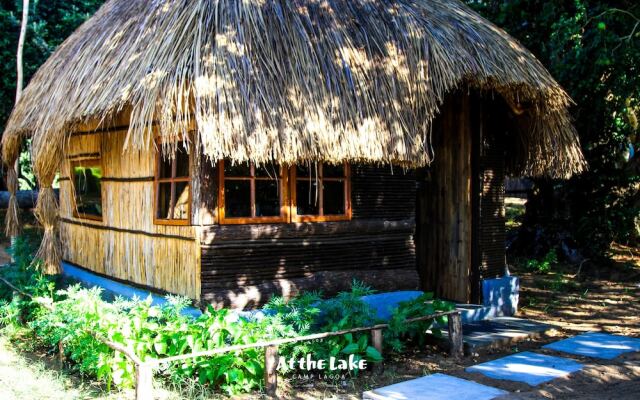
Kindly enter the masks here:
<path id="1" fill-rule="evenodd" d="M 40 183 L 43 184 L 42 181 Z M 59 274 L 61 272 L 62 246 L 58 237 L 58 201 L 50 183 L 48 186 L 41 186 L 34 213 L 44 228 L 42 243 L 40 243 L 35 259 L 42 260 L 43 273 L 47 275 Z"/>

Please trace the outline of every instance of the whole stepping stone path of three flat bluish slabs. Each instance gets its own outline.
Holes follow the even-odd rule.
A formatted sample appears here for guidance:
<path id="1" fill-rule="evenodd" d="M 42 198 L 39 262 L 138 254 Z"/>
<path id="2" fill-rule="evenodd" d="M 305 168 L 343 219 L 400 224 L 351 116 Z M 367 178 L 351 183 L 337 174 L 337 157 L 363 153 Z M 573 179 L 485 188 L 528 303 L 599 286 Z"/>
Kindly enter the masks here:
<path id="1" fill-rule="evenodd" d="M 551 343 L 543 348 L 610 360 L 623 353 L 640 351 L 640 339 L 591 332 Z M 569 358 L 527 351 L 474 365 L 466 371 L 480 373 L 492 379 L 524 382 L 537 386 L 581 369 L 582 364 Z M 489 400 L 505 394 L 508 392 L 470 380 L 445 374 L 433 374 L 365 392 L 362 398 L 368 400 Z"/>

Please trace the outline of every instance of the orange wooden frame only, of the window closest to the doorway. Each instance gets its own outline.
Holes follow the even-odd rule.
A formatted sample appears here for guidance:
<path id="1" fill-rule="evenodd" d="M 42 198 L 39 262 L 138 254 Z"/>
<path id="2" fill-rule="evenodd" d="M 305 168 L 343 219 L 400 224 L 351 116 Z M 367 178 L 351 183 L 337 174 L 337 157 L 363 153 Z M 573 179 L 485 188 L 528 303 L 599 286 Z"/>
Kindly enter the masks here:
<path id="1" fill-rule="evenodd" d="M 290 175 L 291 175 L 291 185 L 290 185 L 290 196 L 291 196 L 291 222 L 334 222 L 334 221 L 350 221 L 353 215 L 353 210 L 351 209 L 351 166 L 349 163 L 345 162 L 344 166 L 344 178 L 324 178 L 322 176 L 323 163 L 318 163 L 318 176 L 313 177 L 309 176 L 309 178 L 300 178 L 309 181 L 318 180 L 318 211 L 319 215 L 298 215 L 298 206 L 297 206 L 297 191 L 296 184 L 298 181 L 298 177 L 296 176 L 296 166 L 291 167 Z M 322 183 L 324 181 L 327 182 L 336 182 L 344 180 L 344 214 L 342 215 L 324 215 L 323 214 L 323 187 Z"/>

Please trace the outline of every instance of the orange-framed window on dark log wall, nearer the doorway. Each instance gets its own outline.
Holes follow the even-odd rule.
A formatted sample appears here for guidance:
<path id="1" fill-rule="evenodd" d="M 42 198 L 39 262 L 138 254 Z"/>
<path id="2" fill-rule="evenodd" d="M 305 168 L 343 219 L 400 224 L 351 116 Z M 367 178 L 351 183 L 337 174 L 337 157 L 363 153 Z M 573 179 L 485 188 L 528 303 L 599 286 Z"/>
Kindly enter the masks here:
<path id="1" fill-rule="evenodd" d="M 292 221 L 351 219 L 348 164 L 297 166 L 292 168 L 291 182 Z"/>

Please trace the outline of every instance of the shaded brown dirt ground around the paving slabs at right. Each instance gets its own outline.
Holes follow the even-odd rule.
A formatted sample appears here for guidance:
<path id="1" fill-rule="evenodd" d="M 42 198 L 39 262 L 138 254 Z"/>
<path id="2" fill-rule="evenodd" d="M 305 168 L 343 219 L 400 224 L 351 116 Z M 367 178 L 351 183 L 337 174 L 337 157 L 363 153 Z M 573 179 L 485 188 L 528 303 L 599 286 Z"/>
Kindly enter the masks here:
<path id="1" fill-rule="evenodd" d="M 512 270 L 521 277 L 517 317 L 552 325 L 554 329 L 544 337 L 501 350 L 480 351 L 459 363 L 436 348 L 415 350 L 389 360 L 381 376 L 365 375 L 344 385 L 289 388 L 286 395 L 309 400 L 359 399 L 365 390 L 440 372 L 511 392 L 505 399 L 640 399 L 640 353 L 609 361 L 541 349 L 545 344 L 589 331 L 640 338 L 640 249 L 613 245 L 612 259 L 615 262 L 610 266 L 584 263 L 579 273 L 580 266 L 573 265 L 555 266 L 544 275 Z M 585 368 L 535 388 L 464 371 L 468 366 L 518 351 L 570 357 Z"/>

